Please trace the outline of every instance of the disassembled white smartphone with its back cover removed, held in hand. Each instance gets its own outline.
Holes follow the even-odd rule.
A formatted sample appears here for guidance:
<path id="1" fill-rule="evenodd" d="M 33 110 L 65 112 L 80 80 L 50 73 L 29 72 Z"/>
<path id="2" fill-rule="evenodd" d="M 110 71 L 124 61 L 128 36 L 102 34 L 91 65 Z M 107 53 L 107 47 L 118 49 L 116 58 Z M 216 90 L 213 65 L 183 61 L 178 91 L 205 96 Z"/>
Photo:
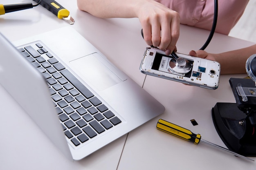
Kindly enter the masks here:
<path id="1" fill-rule="evenodd" d="M 176 57 L 165 55 L 165 52 L 158 48 L 148 47 L 141 61 L 140 71 L 147 75 L 193 86 L 212 90 L 218 88 L 220 81 L 218 62 L 176 54 Z"/>

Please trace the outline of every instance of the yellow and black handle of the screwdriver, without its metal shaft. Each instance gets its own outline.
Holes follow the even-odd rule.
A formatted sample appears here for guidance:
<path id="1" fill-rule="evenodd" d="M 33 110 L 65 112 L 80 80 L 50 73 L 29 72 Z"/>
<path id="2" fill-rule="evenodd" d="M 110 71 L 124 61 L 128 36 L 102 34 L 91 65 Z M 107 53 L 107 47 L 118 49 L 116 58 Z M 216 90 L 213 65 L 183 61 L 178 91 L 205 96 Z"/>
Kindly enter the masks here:
<path id="1" fill-rule="evenodd" d="M 157 129 L 167 132 L 176 137 L 180 137 L 181 139 L 184 139 L 186 141 L 193 141 L 194 144 L 199 144 L 201 139 L 200 134 L 194 134 L 188 129 L 182 128 L 163 119 L 158 120 Z"/>

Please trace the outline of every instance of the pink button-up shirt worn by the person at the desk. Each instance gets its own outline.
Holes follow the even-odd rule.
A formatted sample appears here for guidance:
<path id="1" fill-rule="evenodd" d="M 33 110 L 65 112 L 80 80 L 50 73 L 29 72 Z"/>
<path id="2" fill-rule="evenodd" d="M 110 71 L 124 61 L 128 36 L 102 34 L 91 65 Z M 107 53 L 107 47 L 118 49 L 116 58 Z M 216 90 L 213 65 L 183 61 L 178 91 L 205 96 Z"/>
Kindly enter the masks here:
<path id="1" fill-rule="evenodd" d="M 214 0 L 155 0 L 180 14 L 180 23 L 211 30 Z M 216 32 L 229 34 L 249 0 L 218 0 Z"/>

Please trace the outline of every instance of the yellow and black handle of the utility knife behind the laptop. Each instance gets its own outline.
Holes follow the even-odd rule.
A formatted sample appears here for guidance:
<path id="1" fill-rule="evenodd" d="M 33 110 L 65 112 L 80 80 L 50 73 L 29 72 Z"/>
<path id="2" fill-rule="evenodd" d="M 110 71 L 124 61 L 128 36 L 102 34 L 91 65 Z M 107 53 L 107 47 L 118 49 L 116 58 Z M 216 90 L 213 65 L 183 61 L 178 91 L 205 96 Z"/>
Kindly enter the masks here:
<path id="1" fill-rule="evenodd" d="M 34 1 L 39 2 L 39 0 Z M 41 0 L 40 5 L 45 7 L 48 11 L 51 11 L 59 19 L 66 18 L 70 15 L 70 12 L 67 9 L 54 0 Z"/>

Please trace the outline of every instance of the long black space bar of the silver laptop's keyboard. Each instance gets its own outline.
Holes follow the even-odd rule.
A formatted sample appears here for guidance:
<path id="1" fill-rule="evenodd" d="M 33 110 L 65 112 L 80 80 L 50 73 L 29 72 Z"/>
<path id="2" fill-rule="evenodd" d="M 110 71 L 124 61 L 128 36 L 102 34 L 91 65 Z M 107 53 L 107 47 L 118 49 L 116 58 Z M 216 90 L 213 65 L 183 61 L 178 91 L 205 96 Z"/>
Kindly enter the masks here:
<path id="1" fill-rule="evenodd" d="M 61 71 L 61 74 L 73 85 L 75 86 L 86 98 L 91 98 L 94 95 L 88 88 L 86 88 L 70 71 L 67 69 Z"/>

